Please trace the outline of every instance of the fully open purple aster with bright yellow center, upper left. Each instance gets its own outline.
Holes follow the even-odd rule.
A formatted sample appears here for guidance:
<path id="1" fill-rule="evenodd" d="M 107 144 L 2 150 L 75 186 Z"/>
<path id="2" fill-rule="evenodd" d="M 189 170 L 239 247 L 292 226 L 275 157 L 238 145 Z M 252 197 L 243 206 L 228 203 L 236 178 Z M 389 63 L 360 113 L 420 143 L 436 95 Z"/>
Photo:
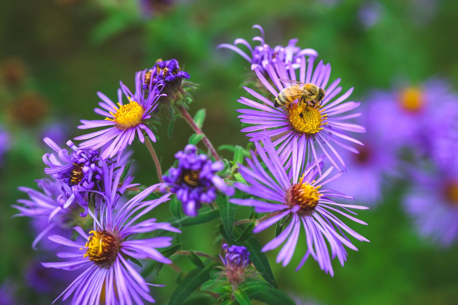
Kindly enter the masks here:
<path id="1" fill-rule="evenodd" d="M 151 93 L 145 94 L 142 89 L 142 72 L 136 74 L 135 79 L 135 94 L 121 83 L 121 89 L 118 89 L 118 105 L 114 105 L 107 96 L 98 92 L 98 97 L 102 100 L 99 106 L 102 108 L 95 108 L 94 111 L 106 117 L 104 120 L 81 120 L 82 125 L 78 126 L 80 129 L 89 129 L 97 127 L 108 127 L 90 134 L 85 134 L 76 137 L 76 140 L 87 140 L 80 144 L 83 149 L 96 150 L 105 144 L 109 146 L 104 149 L 101 154 L 103 159 L 112 158 L 117 154 L 121 154 L 127 145 L 131 145 L 135 136 L 138 135 L 140 142 L 145 141 L 143 131 L 146 132 L 148 137 L 156 142 L 156 137 L 147 125 L 147 120 L 152 117 L 152 112 L 158 106 L 157 102 L 161 94 L 163 84 L 155 85 Z M 129 103 L 124 104 L 122 95 L 127 97 Z M 114 112 L 113 112 L 114 110 Z M 118 156 L 119 158 L 119 156 Z"/>

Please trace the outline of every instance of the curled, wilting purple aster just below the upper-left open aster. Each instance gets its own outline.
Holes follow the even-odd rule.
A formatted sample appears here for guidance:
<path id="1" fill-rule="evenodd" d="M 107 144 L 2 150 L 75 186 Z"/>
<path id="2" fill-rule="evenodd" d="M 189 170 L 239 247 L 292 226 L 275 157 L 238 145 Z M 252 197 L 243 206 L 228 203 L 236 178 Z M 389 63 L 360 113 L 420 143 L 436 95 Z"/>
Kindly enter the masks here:
<path id="1" fill-rule="evenodd" d="M 43 156 L 44 164 L 49 166 L 44 172 L 57 179 L 62 180 L 62 190 L 58 198 L 60 208 L 66 209 L 71 203 L 76 201 L 85 208 L 83 217 L 87 215 L 88 198 L 87 194 L 92 190 L 101 190 L 101 181 L 103 170 L 100 166 L 101 158 L 98 156 L 98 150 L 88 150 L 77 148 L 73 142 L 68 141 L 67 145 L 73 150 L 69 155 L 66 149 L 60 148 L 55 142 L 49 138 L 43 139 L 50 148 L 52 148 L 60 158 L 56 158 L 55 154 L 45 154 Z M 65 198 L 64 198 L 65 196 Z"/>

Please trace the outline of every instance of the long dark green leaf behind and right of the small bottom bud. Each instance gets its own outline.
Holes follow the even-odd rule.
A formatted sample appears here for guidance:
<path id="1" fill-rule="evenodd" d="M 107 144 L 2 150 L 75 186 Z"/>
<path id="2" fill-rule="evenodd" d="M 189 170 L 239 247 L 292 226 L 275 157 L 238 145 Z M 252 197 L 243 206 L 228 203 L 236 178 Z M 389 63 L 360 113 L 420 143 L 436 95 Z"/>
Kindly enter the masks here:
<path id="1" fill-rule="evenodd" d="M 257 271 L 261 273 L 262 277 L 267 281 L 267 283 L 271 284 L 274 288 L 278 288 L 277 282 L 275 282 L 275 277 L 273 276 L 272 268 L 269 264 L 269 260 L 267 259 L 266 254 L 261 252 L 262 245 L 255 236 L 251 236 L 246 241 L 239 242 L 229 239 L 229 236 L 226 234 L 223 225 L 220 225 L 219 231 L 221 232 L 221 235 L 223 235 L 223 237 L 226 239 L 228 244 L 245 246 L 250 252 L 250 260 L 256 267 Z M 234 234 L 240 235 L 240 228 L 234 227 Z"/>

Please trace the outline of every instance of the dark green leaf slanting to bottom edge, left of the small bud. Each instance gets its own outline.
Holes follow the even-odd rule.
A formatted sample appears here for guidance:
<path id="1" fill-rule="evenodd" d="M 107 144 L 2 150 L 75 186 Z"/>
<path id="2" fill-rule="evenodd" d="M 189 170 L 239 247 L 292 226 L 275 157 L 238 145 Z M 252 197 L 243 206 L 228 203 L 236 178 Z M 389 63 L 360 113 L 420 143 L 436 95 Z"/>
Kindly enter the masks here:
<path id="1" fill-rule="evenodd" d="M 188 275 L 177 285 L 170 296 L 169 305 L 180 305 L 200 285 L 210 278 L 210 270 L 218 263 L 210 262 L 207 267 L 192 269 Z"/>

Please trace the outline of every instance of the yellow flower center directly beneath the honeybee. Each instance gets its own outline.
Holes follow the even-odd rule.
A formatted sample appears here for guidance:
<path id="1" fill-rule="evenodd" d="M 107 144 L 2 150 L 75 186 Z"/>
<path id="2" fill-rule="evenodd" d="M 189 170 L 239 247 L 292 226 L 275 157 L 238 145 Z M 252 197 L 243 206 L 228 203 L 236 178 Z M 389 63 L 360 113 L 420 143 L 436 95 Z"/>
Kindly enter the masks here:
<path id="1" fill-rule="evenodd" d="M 320 107 L 305 107 L 304 103 L 292 103 L 289 106 L 289 123 L 296 132 L 301 134 L 315 134 L 326 125 L 327 114 L 322 112 L 325 109 Z M 323 123 L 324 122 L 324 123 Z"/>

